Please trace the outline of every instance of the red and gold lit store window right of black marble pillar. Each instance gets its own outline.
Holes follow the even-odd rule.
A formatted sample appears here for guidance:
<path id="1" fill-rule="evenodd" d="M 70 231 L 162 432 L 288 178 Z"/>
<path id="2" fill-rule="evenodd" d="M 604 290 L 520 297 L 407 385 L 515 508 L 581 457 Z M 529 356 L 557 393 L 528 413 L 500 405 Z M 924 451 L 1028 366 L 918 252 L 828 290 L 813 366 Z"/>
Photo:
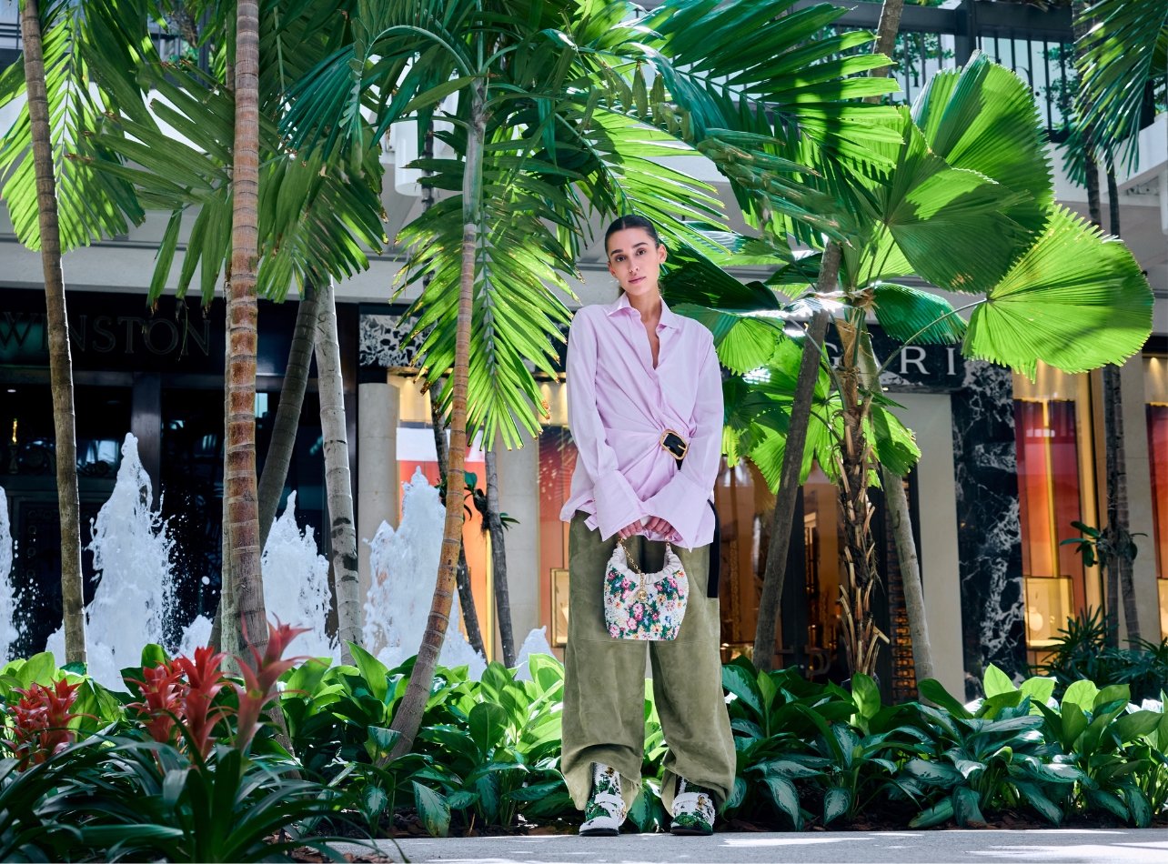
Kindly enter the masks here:
<path id="1" fill-rule="evenodd" d="M 1083 565 L 1071 522 L 1098 524 L 1089 378 L 1040 364 L 1014 377 L 1018 518 L 1030 662 L 1040 662 L 1066 619 L 1098 604 L 1098 572 Z"/>

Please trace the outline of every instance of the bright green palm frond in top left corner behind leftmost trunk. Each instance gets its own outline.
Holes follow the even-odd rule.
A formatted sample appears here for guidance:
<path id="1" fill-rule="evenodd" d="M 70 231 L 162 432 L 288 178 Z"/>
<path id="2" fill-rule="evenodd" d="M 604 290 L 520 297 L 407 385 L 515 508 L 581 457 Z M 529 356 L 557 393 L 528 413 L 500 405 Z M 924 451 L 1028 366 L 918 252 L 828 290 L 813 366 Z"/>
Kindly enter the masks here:
<path id="1" fill-rule="evenodd" d="M 124 234 L 145 217 L 133 188 L 98 170 L 97 163 L 117 160 L 99 137 L 118 134 L 107 118 L 112 106 L 142 103 L 132 70 L 153 48 L 137 2 L 117 11 L 105 0 L 46 2 L 41 33 L 61 248 L 69 251 Z M 0 105 L 23 95 L 25 65 L 19 60 L 0 74 Z M 27 103 L 0 145 L 0 184 L 16 238 L 40 249 Z"/>

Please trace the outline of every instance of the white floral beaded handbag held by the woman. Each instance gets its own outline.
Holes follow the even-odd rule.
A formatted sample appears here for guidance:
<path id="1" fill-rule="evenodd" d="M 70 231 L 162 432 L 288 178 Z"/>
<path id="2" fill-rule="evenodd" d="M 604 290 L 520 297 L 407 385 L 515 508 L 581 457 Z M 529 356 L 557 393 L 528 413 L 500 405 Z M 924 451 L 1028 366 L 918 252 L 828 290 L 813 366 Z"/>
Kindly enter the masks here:
<path id="1" fill-rule="evenodd" d="M 645 573 L 617 543 L 604 574 L 604 622 L 613 639 L 669 641 L 686 616 L 689 578 L 673 546 L 665 544 L 665 565 Z"/>

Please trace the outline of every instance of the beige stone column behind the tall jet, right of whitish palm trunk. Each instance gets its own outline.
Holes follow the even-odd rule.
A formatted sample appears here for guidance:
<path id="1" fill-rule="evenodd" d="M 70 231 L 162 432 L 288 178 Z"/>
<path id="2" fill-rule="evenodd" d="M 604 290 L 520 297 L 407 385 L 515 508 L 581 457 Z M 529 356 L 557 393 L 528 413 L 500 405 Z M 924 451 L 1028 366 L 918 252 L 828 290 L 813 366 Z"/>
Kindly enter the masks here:
<path id="1" fill-rule="evenodd" d="M 381 523 L 395 528 L 402 487 L 397 476 L 398 390 L 375 382 L 357 385 L 357 576 L 361 597 L 369 594 L 369 546 Z"/>

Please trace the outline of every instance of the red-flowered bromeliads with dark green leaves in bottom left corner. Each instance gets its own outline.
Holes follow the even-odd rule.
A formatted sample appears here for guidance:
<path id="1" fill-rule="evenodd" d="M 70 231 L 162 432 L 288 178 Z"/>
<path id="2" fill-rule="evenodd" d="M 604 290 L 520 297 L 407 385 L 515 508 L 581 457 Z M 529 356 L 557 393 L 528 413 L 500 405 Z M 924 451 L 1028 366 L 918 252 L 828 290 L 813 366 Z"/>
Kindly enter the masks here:
<path id="1" fill-rule="evenodd" d="M 283 655 L 298 632 L 272 625 L 265 653 L 242 661 L 242 687 L 210 649 L 171 661 L 148 646 L 142 668 L 126 678 L 138 701 L 126 699 L 124 713 L 99 730 L 83 731 L 81 722 L 93 717 L 79 711 L 107 708 L 104 689 L 57 670 L 51 655 L 8 664 L 5 683 L 48 683 L 6 695 L 15 757 L 0 761 L 4 857 L 201 862 L 267 859 L 299 845 L 327 851 L 321 828 L 349 804 L 348 794 L 300 780 L 286 752 L 257 738 L 277 681 L 294 662 Z M 21 796 L 19 806 L 5 803 L 9 794 Z M 293 839 L 293 827 L 315 836 Z"/>

